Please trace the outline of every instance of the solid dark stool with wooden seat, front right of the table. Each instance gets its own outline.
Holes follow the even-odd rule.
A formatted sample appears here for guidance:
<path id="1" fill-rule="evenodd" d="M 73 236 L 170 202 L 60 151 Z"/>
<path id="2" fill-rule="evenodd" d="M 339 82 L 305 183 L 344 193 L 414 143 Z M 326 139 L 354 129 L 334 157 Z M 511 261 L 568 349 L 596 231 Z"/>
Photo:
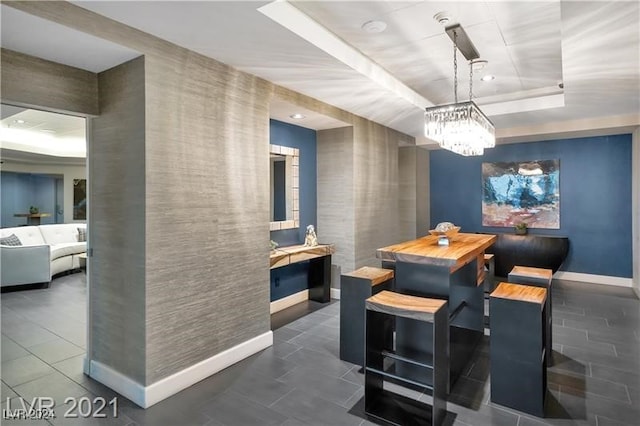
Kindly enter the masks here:
<path id="1" fill-rule="evenodd" d="M 491 401 L 544 416 L 547 290 L 500 283 L 490 296 Z"/>

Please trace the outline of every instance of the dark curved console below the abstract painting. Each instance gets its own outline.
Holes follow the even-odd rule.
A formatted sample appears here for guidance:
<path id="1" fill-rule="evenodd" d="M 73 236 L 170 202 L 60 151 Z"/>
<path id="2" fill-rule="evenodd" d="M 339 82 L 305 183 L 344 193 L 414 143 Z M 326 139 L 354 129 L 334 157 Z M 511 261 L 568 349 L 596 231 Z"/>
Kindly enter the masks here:
<path id="1" fill-rule="evenodd" d="M 556 272 L 569 253 L 569 238 L 553 235 L 497 234 L 487 253 L 495 255 L 495 275 L 506 277 L 514 266 Z"/>

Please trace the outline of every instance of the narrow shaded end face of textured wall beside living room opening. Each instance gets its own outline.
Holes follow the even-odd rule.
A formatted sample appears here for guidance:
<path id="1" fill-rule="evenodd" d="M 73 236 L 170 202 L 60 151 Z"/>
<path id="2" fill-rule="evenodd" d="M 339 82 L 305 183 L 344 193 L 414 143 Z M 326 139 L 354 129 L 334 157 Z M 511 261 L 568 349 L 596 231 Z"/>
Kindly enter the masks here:
<path id="1" fill-rule="evenodd" d="M 99 74 L 89 157 L 90 359 L 139 383 L 146 360 L 145 62 Z"/>

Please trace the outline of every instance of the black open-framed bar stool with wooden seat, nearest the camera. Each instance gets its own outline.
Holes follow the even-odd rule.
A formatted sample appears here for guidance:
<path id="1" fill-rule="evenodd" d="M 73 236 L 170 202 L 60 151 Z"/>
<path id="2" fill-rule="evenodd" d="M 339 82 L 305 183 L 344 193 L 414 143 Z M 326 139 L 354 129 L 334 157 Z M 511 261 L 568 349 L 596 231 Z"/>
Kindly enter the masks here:
<path id="1" fill-rule="evenodd" d="M 394 332 L 396 318 L 420 322 L 424 334 L 415 339 L 431 340 L 431 353 L 396 351 L 389 338 Z M 366 300 L 365 352 L 365 413 L 398 425 L 440 425 L 447 412 L 449 383 L 449 312 L 447 301 L 381 291 Z M 397 364 L 430 372 L 427 383 L 415 376 L 398 373 Z M 407 370 L 408 371 L 408 370 Z M 422 375 L 420 375 L 422 376 Z M 431 406 L 407 396 L 384 389 L 384 381 L 391 380 L 408 387 L 431 390 Z M 430 421 L 430 423 L 425 423 Z"/>

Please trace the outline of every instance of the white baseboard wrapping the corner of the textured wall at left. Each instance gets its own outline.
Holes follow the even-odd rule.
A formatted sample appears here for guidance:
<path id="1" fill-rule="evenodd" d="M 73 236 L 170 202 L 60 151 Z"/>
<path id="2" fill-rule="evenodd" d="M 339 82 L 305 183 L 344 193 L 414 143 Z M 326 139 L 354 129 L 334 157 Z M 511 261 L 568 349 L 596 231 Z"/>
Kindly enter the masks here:
<path id="1" fill-rule="evenodd" d="M 129 398 L 140 407 L 149 408 L 272 345 L 273 333 L 268 331 L 149 386 L 144 386 L 98 361 L 90 362 L 90 376 Z"/>

